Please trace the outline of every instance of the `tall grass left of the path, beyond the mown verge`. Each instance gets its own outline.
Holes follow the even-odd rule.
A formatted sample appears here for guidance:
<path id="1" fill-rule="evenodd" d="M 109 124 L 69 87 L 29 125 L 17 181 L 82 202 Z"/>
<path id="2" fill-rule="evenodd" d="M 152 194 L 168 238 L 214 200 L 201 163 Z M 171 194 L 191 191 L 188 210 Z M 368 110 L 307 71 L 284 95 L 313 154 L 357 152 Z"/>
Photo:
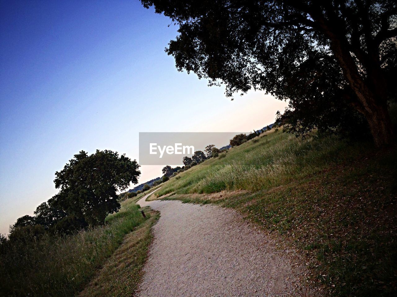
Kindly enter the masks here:
<path id="1" fill-rule="evenodd" d="M 149 216 L 146 217 L 148 219 Z M 74 235 L 44 235 L 0 246 L 0 292 L 5 296 L 75 296 L 145 219 L 133 200 L 121 203 L 106 225 Z"/>

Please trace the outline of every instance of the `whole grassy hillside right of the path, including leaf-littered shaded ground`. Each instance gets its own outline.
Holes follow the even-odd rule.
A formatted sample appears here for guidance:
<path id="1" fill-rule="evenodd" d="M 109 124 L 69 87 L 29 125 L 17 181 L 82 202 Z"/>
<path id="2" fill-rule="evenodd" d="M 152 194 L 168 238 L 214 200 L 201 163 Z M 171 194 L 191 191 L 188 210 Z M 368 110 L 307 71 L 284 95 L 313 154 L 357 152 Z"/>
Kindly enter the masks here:
<path id="1" fill-rule="evenodd" d="M 397 284 L 396 153 L 272 130 L 180 173 L 156 196 L 241 211 L 305 253 L 308 282 L 330 295 L 389 296 Z"/>

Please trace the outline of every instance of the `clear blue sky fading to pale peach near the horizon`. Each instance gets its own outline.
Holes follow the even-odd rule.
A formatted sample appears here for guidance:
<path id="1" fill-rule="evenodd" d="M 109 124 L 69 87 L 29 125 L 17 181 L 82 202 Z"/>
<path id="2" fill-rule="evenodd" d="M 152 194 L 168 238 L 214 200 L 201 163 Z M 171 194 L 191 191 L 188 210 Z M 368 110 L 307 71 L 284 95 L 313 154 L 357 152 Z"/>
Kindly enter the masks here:
<path id="1" fill-rule="evenodd" d="M 138 159 L 139 132 L 250 131 L 286 106 L 177 72 L 164 52 L 177 27 L 138 0 L 0 3 L 0 233 L 80 150 Z M 142 166 L 140 183 L 161 168 Z"/>

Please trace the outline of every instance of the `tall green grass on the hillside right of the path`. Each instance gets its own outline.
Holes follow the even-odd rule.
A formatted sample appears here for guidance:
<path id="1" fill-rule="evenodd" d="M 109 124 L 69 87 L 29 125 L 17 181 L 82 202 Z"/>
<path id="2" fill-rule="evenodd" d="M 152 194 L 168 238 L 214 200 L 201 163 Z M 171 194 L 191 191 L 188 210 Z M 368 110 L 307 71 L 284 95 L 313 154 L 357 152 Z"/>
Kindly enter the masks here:
<path id="1" fill-rule="evenodd" d="M 277 187 L 354 160 L 371 145 L 347 144 L 336 136 L 304 139 L 281 131 L 269 131 L 259 141 L 248 141 L 212 158 L 165 183 L 158 195 L 212 193 L 222 190 L 257 191 Z"/>

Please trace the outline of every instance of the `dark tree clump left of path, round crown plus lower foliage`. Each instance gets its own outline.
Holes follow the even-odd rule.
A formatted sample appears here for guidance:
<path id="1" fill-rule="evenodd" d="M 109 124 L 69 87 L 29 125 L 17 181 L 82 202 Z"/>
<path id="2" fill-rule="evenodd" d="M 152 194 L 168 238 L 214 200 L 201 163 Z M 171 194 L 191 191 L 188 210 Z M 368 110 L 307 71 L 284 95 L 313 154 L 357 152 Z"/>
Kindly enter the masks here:
<path id="1" fill-rule="evenodd" d="M 10 228 L 10 236 L 42 230 L 69 232 L 104 224 L 106 215 L 120 208 L 116 192 L 129 187 L 131 182 L 138 183 L 138 169 L 135 160 L 119 156 L 118 152 L 79 152 L 55 173 L 58 194 L 40 204 L 33 217 L 17 219 Z"/>

